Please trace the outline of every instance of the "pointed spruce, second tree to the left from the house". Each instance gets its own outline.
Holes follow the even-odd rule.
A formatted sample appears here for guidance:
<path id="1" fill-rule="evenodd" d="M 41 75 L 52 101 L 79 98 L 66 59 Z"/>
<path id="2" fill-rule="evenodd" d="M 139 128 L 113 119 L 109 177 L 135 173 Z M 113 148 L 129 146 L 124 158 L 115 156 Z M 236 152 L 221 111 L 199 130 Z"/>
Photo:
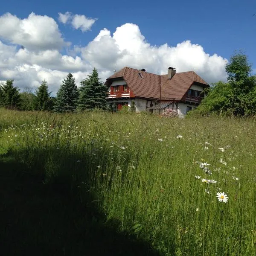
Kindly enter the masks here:
<path id="1" fill-rule="evenodd" d="M 54 110 L 56 112 L 73 112 L 76 110 L 79 92 L 73 75 L 69 73 L 58 90 Z"/>

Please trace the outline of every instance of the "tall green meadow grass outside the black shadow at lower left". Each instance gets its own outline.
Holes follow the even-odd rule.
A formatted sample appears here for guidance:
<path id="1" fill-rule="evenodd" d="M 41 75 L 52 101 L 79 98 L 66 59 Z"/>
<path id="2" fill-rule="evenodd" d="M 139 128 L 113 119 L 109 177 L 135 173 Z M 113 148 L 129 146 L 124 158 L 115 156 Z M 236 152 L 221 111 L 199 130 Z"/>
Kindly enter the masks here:
<path id="1" fill-rule="evenodd" d="M 81 200 L 90 192 L 107 220 L 161 254 L 256 255 L 254 120 L 6 110 L 0 120 L 2 155 L 79 187 Z"/>

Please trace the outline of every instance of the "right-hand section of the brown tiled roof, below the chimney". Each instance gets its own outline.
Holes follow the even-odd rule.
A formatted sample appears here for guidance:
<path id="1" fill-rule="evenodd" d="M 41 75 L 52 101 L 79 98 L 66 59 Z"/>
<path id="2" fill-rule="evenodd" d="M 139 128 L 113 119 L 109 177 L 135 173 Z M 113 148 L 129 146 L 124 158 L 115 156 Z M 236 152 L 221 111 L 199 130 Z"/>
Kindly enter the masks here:
<path id="1" fill-rule="evenodd" d="M 162 75 L 161 99 L 181 100 L 194 83 L 200 83 L 203 87 L 208 86 L 207 82 L 194 71 L 176 73 L 172 79 L 167 79 L 167 75 Z"/>

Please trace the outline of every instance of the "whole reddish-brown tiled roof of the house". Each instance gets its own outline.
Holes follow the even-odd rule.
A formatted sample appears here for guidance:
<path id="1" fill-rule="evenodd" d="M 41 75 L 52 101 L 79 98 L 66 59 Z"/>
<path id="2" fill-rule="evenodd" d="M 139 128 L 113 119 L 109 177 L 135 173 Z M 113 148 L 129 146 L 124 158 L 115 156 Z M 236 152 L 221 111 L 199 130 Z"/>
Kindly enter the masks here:
<path id="1" fill-rule="evenodd" d="M 140 77 L 139 73 L 143 78 Z M 105 84 L 110 85 L 110 80 L 116 78 L 123 78 L 135 97 L 161 98 L 161 100 L 181 100 L 193 83 L 200 83 L 204 87 L 208 86 L 207 82 L 194 71 L 176 73 L 172 79 L 167 79 L 167 75 L 160 76 L 131 67 L 124 67 L 110 76 Z"/>

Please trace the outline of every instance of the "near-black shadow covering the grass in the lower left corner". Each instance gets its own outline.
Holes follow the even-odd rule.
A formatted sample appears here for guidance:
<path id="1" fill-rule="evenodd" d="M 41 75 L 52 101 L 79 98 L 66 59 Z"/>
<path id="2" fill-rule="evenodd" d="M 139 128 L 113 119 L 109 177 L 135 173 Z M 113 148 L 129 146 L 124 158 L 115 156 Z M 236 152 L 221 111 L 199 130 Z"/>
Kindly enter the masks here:
<path id="1" fill-rule="evenodd" d="M 12 154 L 0 155 L 1 255 L 160 255 L 150 244 L 117 232 L 87 195 L 43 183 Z"/>

